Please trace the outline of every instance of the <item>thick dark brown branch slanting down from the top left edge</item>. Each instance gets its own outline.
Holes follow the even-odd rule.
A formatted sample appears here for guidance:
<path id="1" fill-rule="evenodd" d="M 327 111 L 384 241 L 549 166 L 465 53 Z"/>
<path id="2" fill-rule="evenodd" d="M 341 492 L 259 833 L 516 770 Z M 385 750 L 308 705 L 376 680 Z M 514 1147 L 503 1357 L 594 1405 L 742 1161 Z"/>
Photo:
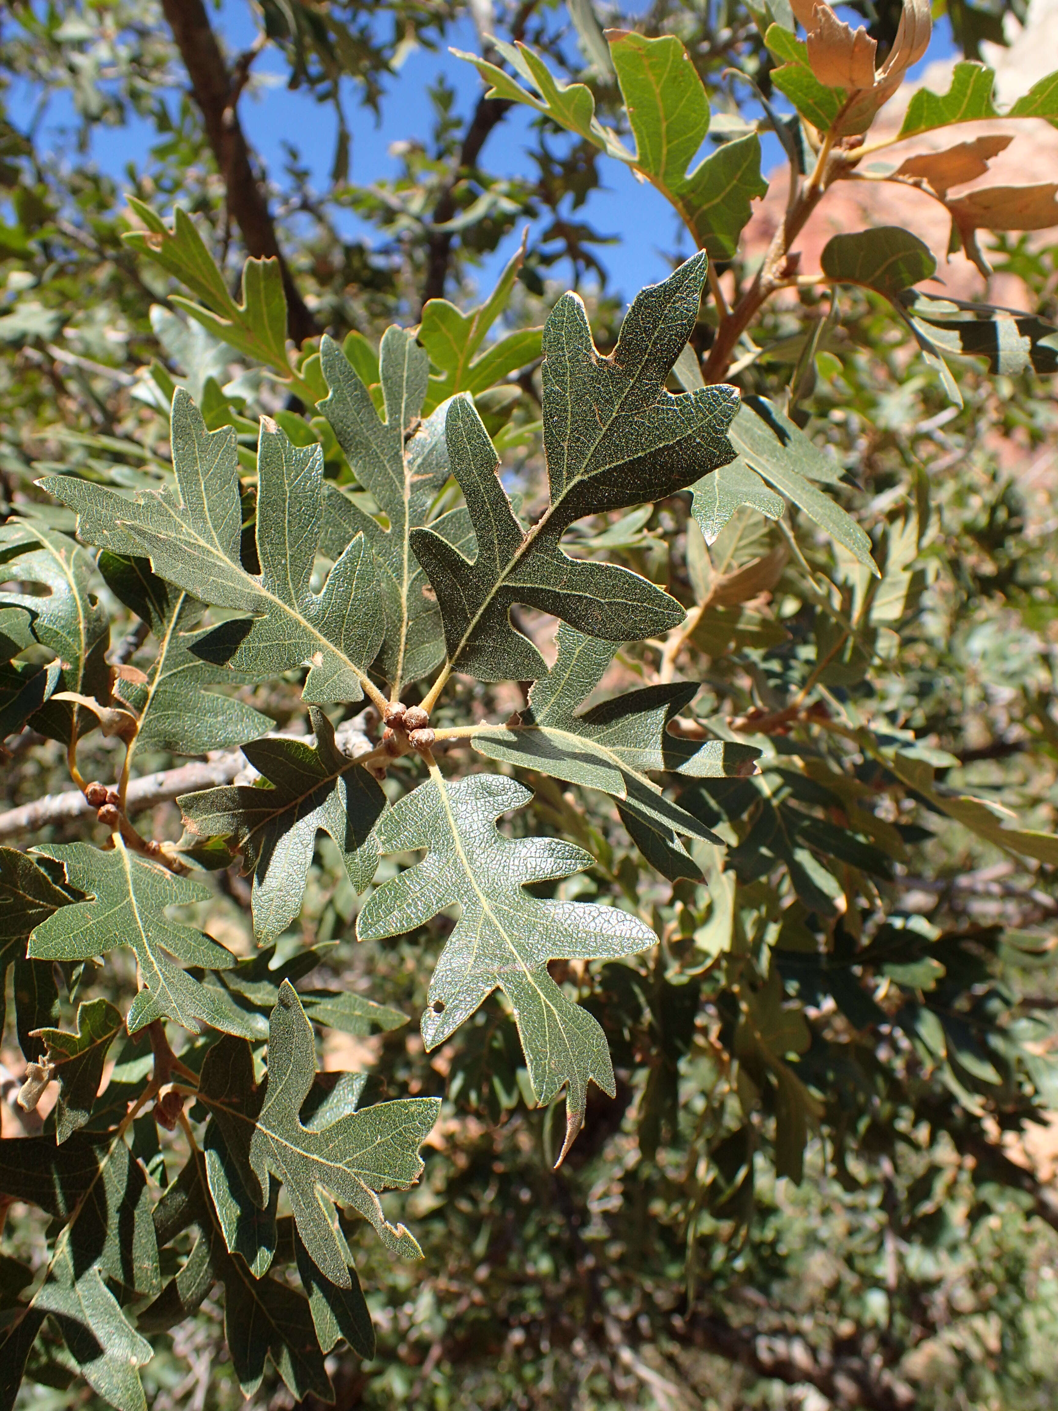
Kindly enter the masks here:
<path id="1" fill-rule="evenodd" d="M 203 0 L 162 0 L 162 11 L 188 69 L 195 102 L 206 123 L 206 135 L 227 189 L 227 206 L 243 231 L 243 243 L 255 258 L 279 260 L 286 293 L 288 327 L 300 347 L 320 330 L 302 299 L 275 238 L 268 200 L 254 176 L 243 128 L 238 95 L 245 85 L 250 55 L 230 73 L 206 14 Z"/>

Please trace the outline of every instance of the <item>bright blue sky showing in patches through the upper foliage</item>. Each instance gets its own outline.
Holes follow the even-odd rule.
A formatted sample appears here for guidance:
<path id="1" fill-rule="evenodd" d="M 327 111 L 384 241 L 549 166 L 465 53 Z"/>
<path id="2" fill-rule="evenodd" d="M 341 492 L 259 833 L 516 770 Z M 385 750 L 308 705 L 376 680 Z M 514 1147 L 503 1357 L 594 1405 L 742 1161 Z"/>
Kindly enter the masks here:
<path id="1" fill-rule="evenodd" d="M 255 37 L 247 0 L 221 0 L 220 10 L 213 13 L 213 23 L 223 32 L 229 52 L 247 48 Z M 457 28 L 450 42 L 456 48 L 477 49 L 470 21 Z M 949 54 L 951 48 L 945 20 L 934 34 L 928 59 Z M 329 183 L 334 155 L 334 113 L 305 92 L 288 90 L 285 72 L 282 56 L 275 49 L 267 49 L 254 66 L 258 83 L 254 92 L 244 96 L 240 119 L 248 141 L 271 172 L 281 174 L 284 143 L 292 143 L 312 172 L 313 183 L 323 190 Z M 354 86 L 347 85 L 346 116 L 353 134 L 350 179 L 354 183 L 370 185 L 379 178 L 396 175 L 398 159 L 389 155 L 391 144 L 429 135 L 432 110 L 426 90 L 440 75 L 457 93 L 458 113 L 468 114 L 481 93 L 481 80 L 471 65 L 456 59 L 447 49 L 430 52 L 420 48 L 411 54 L 401 72 L 387 83 L 381 123 L 370 109 L 360 106 Z M 38 96 L 28 89 L 13 90 L 8 95 L 11 117 L 17 123 L 27 121 Z M 487 169 L 535 175 L 535 166 L 526 154 L 530 116 L 528 109 L 515 109 L 504 126 L 492 133 L 482 158 Z M 45 145 L 62 148 L 69 143 L 72 126 L 69 100 L 65 95 L 56 95 L 48 104 L 39 137 Z M 152 140 L 151 126 L 138 119 L 121 128 L 99 126 L 92 133 L 87 158 L 78 159 L 96 162 L 121 182 L 130 162 L 135 166 L 144 164 Z M 763 145 L 763 169 L 767 172 L 780 164 L 782 151 L 772 134 L 765 134 Z M 598 248 L 598 254 L 614 289 L 628 299 L 643 284 L 667 274 L 666 255 L 679 248 L 679 222 L 667 202 L 652 186 L 640 185 L 622 164 L 601 158 L 600 176 L 602 188 L 588 196 L 574 219 L 585 220 L 595 230 L 619 238 L 615 246 Z M 374 238 L 372 227 L 350 212 L 340 213 L 339 227 L 347 237 L 360 236 L 368 241 Z M 521 227 L 485 261 L 478 275 L 482 288 L 491 284 L 519 238 Z M 683 248 L 690 254 L 686 237 Z M 557 272 L 564 277 L 568 271 L 559 268 Z"/>

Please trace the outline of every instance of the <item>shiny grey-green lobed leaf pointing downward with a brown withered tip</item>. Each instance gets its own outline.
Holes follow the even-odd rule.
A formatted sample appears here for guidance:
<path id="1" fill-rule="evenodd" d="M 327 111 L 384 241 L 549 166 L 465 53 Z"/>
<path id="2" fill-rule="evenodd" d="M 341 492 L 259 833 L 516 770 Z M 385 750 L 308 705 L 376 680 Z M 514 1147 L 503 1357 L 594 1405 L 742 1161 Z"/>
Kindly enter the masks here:
<path id="1" fill-rule="evenodd" d="M 550 1102 L 566 1086 L 564 1156 L 584 1120 L 588 1082 L 612 1096 L 614 1070 L 601 1027 L 556 985 L 547 961 L 631 955 L 652 945 L 655 935 L 615 907 L 540 900 L 525 890 L 529 882 L 594 865 L 571 844 L 512 841 L 497 831 L 499 814 L 530 797 L 509 779 L 475 775 L 450 785 L 432 768 L 429 783 L 406 794 L 378 828 L 384 851 L 427 848 L 427 855 L 368 897 L 357 935 L 399 935 L 447 906 L 461 907 L 430 981 L 422 1019 L 426 1048 L 443 1043 L 494 989 L 502 989 L 537 1102 Z"/>

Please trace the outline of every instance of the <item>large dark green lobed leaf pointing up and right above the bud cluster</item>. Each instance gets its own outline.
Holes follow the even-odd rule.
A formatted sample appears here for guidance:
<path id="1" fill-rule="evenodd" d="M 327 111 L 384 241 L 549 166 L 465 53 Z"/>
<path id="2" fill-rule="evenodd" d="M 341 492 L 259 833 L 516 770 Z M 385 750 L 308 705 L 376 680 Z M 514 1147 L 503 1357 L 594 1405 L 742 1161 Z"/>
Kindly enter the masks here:
<path id="1" fill-rule="evenodd" d="M 684 488 L 732 459 L 724 432 L 734 388 L 664 389 L 697 317 L 705 255 L 642 291 L 609 357 L 595 349 L 583 302 L 567 293 L 543 337 L 543 430 L 550 501 L 526 531 L 497 478 L 498 459 L 473 405 L 446 419 L 451 473 L 477 535 L 471 562 L 432 529 L 411 542 L 437 594 L 450 666 L 481 680 L 532 680 L 540 653 L 509 622 L 525 602 L 581 632 L 633 641 L 677 625 L 683 608 L 615 564 L 570 559 L 566 529 L 584 515 L 624 509 Z"/>

